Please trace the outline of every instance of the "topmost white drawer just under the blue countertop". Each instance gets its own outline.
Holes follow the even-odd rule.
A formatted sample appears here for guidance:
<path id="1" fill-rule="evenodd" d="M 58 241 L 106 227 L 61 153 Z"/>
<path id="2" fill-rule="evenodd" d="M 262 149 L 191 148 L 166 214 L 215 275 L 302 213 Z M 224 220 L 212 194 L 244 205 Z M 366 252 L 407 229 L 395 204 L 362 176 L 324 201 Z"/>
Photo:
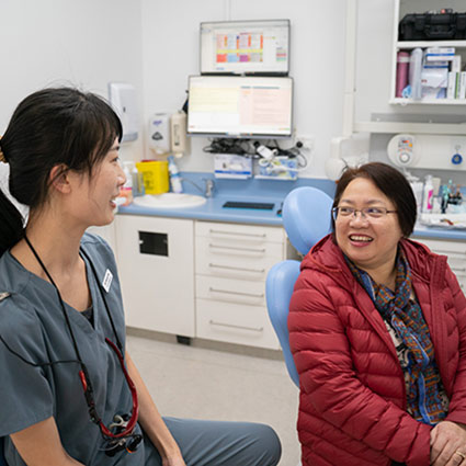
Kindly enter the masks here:
<path id="1" fill-rule="evenodd" d="M 243 243 L 263 243 L 268 241 L 283 243 L 286 238 L 285 230 L 282 227 L 198 220 L 195 223 L 195 236 L 211 239 L 229 239 Z"/>

